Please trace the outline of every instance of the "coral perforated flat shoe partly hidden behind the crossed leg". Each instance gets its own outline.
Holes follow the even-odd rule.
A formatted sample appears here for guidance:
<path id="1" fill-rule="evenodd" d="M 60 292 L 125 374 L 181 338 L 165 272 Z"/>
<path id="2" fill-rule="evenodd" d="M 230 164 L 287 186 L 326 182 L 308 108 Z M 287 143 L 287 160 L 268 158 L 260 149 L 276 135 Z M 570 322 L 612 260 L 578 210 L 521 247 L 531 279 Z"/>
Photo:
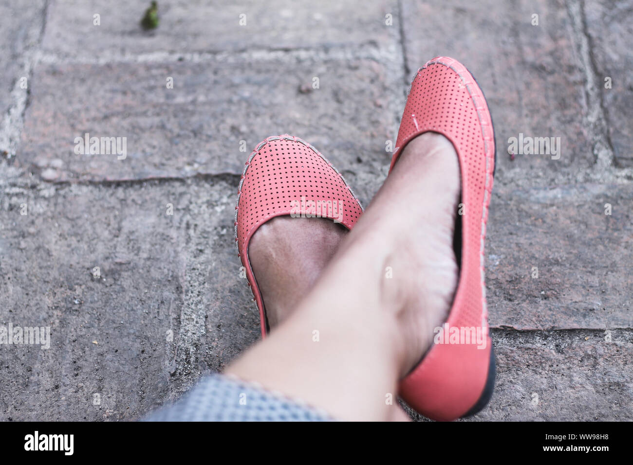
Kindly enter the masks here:
<path id="1" fill-rule="evenodd" d="M 330 218 L 351 230 L 363 208 L 341 173 L 298 137 L 271 136 L 249 156 L 235 204 L 235 241 L 260 311 L 261 336 L 270 328 L 248 245 L 257 228 L 275 216 Z"/>

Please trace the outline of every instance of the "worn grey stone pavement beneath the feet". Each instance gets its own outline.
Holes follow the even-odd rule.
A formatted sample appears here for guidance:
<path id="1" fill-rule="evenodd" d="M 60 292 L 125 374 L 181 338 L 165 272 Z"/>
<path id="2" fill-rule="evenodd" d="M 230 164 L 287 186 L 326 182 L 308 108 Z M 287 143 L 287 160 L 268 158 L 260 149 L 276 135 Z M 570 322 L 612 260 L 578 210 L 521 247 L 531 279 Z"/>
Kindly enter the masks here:
<path id="1" fill-rule="evenodd" d="M 175 1 L 150 33 L 142 9 L 0 6 L 0 324 L 51 327 L 49 350 L 0 347 L 0 419 L 141 418 L 254 344 L 244 159 L 296 133 L 367 205 L 409 71 L 436 55 L 477 76 L 498 146 L 497 389 L 472 419 L 633 419 L 631 1 Z M 85 132 L 128 137 L 128 157 L 75 154 Z M 560 136 L 561 158 L 510 156 L 518 133 Z"/>

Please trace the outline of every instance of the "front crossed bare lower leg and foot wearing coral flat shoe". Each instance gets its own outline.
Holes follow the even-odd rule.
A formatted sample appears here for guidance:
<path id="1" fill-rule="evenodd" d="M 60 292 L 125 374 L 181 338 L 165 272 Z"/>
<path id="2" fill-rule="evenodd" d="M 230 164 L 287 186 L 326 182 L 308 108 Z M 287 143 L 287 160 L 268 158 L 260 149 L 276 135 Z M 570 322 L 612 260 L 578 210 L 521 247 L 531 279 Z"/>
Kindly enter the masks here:
<path id="1" fill-rule="evenodd" d="M 229 373 L 343 419 L 393 418 L 398 394 L 444 420 L 489 399 L 494 357 L 482 257 L 494 130 L 465 66 L 437 57 L 418 70 L 396 145 L 403 149 L 389 178 L 297 311 Z M 484 346 L 433 347 L 418 364 L 447 316 L 460 328 L 480 326 Z"/>

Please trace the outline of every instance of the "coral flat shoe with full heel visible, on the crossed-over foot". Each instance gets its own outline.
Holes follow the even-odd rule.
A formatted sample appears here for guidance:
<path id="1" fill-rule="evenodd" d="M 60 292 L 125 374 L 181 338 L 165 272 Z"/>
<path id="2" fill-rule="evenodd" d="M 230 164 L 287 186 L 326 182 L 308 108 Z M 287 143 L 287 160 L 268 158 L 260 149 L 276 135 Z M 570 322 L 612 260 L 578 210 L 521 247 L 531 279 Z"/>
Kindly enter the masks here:
<path id="1" fill-rule="evenodd" d="M 418 70 L 404 106 L 390 171 L 404 146 L 429 131 L 453 142 L 459 158 L 463 215 L 456 222 L 456 234 L 461 230 L 461 237 L 455 253 L 460 273 L 442 333 L 401 381 L 399 394 L 421 414 L 449 421 L 486 406 L 495 377 L 484 277 L 484 239 L 496 157 L 494 128 L 484 93 L 466 67 L 453 58 L 434 58 Z"/>

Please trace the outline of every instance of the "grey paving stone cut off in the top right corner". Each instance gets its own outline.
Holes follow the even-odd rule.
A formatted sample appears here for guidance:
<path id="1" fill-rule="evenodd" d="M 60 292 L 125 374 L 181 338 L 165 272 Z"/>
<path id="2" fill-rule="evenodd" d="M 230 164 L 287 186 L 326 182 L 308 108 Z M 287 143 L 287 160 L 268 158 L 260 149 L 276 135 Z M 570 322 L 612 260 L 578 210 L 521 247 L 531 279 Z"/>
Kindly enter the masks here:
<path id="1" fill-rule="evenodd" d="M 585 2 L 587 34 L 598 74 L 596 84 L 618 166 L 633 166 L 633 8 L 630 2 Z M 611 78 L 606 89 L 605 78 Z"/>

